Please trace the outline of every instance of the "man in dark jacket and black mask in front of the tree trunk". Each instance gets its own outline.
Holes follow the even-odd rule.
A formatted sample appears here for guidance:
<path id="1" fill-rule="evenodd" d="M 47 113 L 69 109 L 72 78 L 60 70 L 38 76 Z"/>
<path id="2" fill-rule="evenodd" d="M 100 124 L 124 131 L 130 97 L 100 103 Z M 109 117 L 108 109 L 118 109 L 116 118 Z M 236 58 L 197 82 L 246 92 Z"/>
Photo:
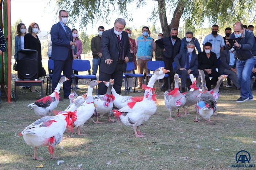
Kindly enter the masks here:
<path id="1" fill-rule="evenodd" d="M 161 38 L 155 43 L 162 49 L 164 49 L 163 61 L 165 63 L 165 69 L 170 70 L 167 74 L 170 78 L 170 85 L 172 84 L 173 78 L 173 59 L 180 52 L 181 39 L 177 37 L 178 29 L 173 28 L 170 32 L 170 37 Z M 164 78 L 165 83 L 160 87 L 162 91 L 168 89 L 168 78 Z"/>

